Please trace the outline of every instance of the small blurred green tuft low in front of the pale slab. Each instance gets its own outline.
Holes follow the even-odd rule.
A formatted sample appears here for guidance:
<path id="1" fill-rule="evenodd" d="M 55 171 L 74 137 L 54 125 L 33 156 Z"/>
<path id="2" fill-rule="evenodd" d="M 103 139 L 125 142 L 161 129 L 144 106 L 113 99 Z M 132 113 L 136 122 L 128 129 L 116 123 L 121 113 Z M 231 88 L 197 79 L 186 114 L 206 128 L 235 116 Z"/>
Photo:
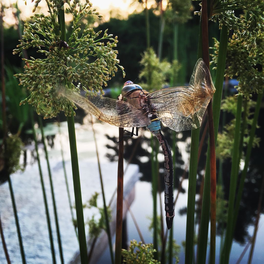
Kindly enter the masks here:
<path id="1" fill-rule="evenodd" d="M 98 192 L 95 192 L 91 198 L 87 201 L 86 204 L 83 205 L 83 208 L 97 208 L 100 214 L 100 218 L 96 220 L 95 215 L 92 215 L 91 219 L 88 219 L 87 224 L 89 227 L 89 236 L 90 237 L 98 237 L 100 235 L 102 230 L 106 230 L 106 217 L 104 213 L 103 207 L 97 206 L 97 198 L 99 196 Z M 107 207 L 107 215 L 109 221 L 111 220 L 111 209 L 110 207 Z"/>

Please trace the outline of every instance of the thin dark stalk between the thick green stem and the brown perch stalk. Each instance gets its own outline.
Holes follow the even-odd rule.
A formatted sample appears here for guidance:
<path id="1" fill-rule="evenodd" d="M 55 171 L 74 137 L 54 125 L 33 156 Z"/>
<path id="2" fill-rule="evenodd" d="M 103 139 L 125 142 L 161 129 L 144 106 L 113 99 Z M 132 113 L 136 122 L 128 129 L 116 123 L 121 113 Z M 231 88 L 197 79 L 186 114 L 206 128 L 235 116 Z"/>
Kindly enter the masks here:
<path id="1" fill-rule="evenodd" d="M 98 147 L 97 147 L 97 142 L 96 142 L 95 129 L 93 127 L 92 116 L 91 116 L 91 124 L 92 124 L 92 130 L 93 130 L 93 138 L 95 141 L 95 151 L 96 151 L 96 156 L 97 156 L 98 171 L 99 171 L 101 190 L 102 190 L 102 196 L 103 196 L 103 210 L 105 213 L 105 224 L 106 224 L 106 232 L 107 232 L 107 236 L 108 236 L 108 244 L 109 244 L 109 250 L 110 250 L 110 256 L 111 256 L 111 263 L 114 264 L 112 237 L 111 237 L 111 231 L 110 231 L 110 227 L 109 227 L 109 219 L 108 219 L 107 206 L 106 206 L 106 201 L 105 201 L 105 191 L 103 188 L 103 177 L 102 177 L 102 172 L 101 172 L 100 159 L 99 159 Z"/>

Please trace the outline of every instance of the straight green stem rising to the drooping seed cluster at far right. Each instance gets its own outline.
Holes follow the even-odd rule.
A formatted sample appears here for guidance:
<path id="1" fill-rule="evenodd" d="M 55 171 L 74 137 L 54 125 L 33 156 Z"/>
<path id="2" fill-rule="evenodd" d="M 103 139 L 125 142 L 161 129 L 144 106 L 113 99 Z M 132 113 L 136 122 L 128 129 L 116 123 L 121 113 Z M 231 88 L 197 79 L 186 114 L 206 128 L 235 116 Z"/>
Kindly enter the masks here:
<path id="1" fill-rule="evenodd" d="M 235 117 L 235 135 L 234 135 L 234 145 L 232 152 L 232 165 L 231 165 L 231 175 L 230 175 L 230 187 L 229 187 L 229 197 L 228 197 L 228 219 L 227 228 L 225 235 L 225 243 L 223 248 L 223 255 L 221 258 L 221 263 L 229 262 L 230 248 L 233 238 L 233 215 L 234 215 L 234 201 L 235 193 L 237 188 L 237 164 L 238 164 L 238 151 L 239 151 L 239 134 L 241 126 L 241 112 L 242 112 L 242 100 L 243 96 L 239 95 L 237 100 L 237 113 Z"/>

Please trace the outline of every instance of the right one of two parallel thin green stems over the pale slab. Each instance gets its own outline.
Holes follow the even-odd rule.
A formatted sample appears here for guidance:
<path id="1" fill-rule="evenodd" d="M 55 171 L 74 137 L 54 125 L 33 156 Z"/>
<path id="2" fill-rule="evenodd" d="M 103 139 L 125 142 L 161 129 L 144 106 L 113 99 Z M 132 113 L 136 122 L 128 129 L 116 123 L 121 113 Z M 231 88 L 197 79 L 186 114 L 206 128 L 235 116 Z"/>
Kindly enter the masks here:
<path id="1" fill-rule="evenodd" d="M 44 138 L 43 124 L 42 124 L 42 120 L 41 120 L 40 116 L 39 116 L 39 126 L 40 126 L 40 131 L 41 131 L 41 141 L 42 141 L 42 144 L 44 147 L 45 158 L 46 158 L 47 167 L 48 167 L 50 191 L 51 191 L 51 198 L 52 198 L 52 204 L 53 204 L 53 212 L 54 212 L 54 218 L 55 218 L 58 247 L 59 247 L 59 253 L 60 253 L 60 262 L 63 264 L 64 260 L 63 260 L 63 252 L 62 252 L 62 241 L 61 241 L 61 237 L 60 237 L 60 227 L 59 227 L 59 219 L 58 219 L 58 213 L 57 213 L 56 199 L 55 199 L 55 194 L 54 194 L 54 186 L 53 186 L 53 180 L 52 180 L 52 176 L 51 176 L 48 150 L 47 150 L 45 138 Z"/>

